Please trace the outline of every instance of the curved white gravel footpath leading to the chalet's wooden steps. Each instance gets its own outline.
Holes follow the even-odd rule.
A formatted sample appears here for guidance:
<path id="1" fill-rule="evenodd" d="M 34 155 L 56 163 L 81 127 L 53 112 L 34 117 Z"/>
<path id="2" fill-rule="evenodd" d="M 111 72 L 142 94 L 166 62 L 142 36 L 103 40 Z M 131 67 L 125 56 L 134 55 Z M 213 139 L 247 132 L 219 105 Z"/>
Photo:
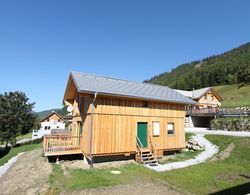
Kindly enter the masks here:
<path id="1" fill-rule="evenodd" d="M 204 138 L 204 135 L 197 134 L 193 136 L 193 139 L 198 142 L 200 145 L 204 146 L 204 151 L 198 154 L 195 158 L 181 161 L 181 162 L 173 162 L 173 163 L 168 163 L 164 165 L 158 165 L 158 166 L 148 166 L 145 165 L 146 167 L 153 169 L 154 171 L 157 172 L 162 172 L 162 171 L 170 171 L 173 169 L 180 169 L 184 167 L 188 167 L 191 165 L 196 165 L 202 162 L 205 162 L 207 159 L 213 157 L 218 152 L 218 147 L 211 142 L 209 142 L 207 139 Z"/>

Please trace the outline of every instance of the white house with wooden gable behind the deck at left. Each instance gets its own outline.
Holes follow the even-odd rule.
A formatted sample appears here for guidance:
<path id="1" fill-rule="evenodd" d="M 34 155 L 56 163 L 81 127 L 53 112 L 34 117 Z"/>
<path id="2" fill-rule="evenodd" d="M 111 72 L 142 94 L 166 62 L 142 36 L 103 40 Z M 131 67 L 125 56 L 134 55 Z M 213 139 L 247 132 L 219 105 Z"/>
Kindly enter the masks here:
<path id="1" fill-rule="evenodd" d="M 34 130 L 32 133 L 32 139 L 41 138 L 46 134 L 51 134 L 52 131 L 64 131 L 65 121 L 62 116 L 60 116 L 55 111 L 44 117 L 39 122 L 39 129 Z"/>

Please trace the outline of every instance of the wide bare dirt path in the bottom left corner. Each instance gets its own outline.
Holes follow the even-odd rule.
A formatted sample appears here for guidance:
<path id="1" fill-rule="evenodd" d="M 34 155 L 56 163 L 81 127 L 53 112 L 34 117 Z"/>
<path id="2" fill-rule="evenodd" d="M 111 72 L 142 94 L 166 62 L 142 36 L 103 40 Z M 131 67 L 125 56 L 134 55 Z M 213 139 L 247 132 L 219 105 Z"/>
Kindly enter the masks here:
<path id="1" fill-rule="evenodd" d="M 24 153 L 14 165 L 0 177 L 0 194 L 39 194 L 45 190 L 50 164 L 41 157 L 42 150 Z"/>

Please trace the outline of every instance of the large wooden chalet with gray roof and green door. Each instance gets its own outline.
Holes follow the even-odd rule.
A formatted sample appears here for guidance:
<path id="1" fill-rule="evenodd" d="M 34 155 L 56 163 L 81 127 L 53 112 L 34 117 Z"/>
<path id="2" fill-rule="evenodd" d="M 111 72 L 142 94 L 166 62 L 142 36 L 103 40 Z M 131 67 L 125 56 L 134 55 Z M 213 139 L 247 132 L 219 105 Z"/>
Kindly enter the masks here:
<path id="1" fill-rule="evenodd" d="M 144 152 L 155 157 L 185 148 L 185 106 L 195 103 L 168 87 L 77 72 L 70 73 L 63 101 L 73 107 L 68 145 L 45 136 L 44 154 L 81 153 L 91 163 L 95 156 L 143 161 Z"/>

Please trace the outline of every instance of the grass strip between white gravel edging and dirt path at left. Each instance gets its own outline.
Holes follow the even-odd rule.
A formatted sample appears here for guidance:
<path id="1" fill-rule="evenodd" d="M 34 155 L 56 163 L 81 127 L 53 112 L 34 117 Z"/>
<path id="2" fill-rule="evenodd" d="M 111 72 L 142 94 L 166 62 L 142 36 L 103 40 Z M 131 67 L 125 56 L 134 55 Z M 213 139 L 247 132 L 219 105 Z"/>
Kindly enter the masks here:
<path id="1" fill-rule="evenodd" d="M 38 143 L 38 144 L 27 144 L 27 145 L 22 145 L 19 147 L 12 148 L 7 155 L 5 155 L 4 157 L 0 159 L 0 166 L 7 163 L 8 160 L 10 160 L 12 157 L 16 156 L 20 152 L 27 152 L 27 151 L 35 150 L 41 147 L 42 147 L 42 144 Z"/>

